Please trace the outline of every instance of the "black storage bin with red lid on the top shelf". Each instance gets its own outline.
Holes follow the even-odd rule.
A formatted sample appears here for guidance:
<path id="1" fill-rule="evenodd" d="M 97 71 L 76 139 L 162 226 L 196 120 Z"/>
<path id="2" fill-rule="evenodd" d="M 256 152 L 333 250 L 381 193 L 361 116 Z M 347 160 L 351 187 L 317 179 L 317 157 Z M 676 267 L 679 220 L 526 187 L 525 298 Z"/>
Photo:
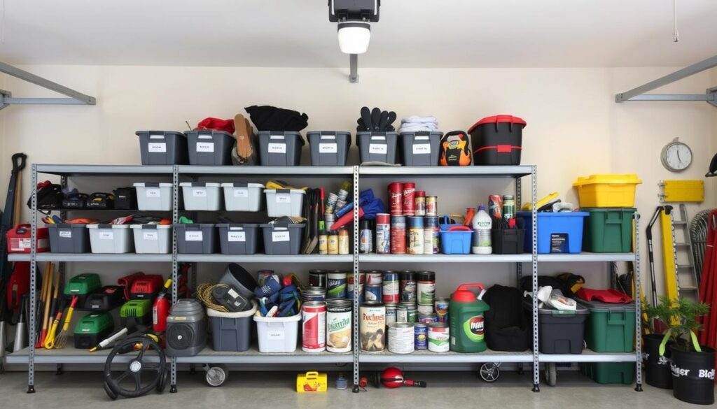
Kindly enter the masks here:
<path id="1" fill-rule="evenodd" d="M 470 127 L 475 165 L 520 165 L 526 121 L 512 115 L 485 117 Z"/>

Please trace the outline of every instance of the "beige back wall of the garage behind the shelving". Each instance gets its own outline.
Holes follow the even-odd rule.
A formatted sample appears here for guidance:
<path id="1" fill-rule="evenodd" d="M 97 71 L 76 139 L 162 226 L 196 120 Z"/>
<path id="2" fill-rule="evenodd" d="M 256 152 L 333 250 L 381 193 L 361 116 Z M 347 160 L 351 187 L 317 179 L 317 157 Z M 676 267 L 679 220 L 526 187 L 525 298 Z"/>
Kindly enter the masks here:
<path id="1" fill-rule="evenodd" d="M 486 115 L 521 116 L 528 122 L 523 163 L 538 165 L 538 196 L 559 191 L 576 201 L 571 183 L 578 175 L 638 173 L 644 227 L 657 205 L 657 181 L 701 178 L 717 148 L 717 110 L 706 103 L 614 103 L 616 92 L 670 68 L 360 69 L 359 84 L 349 84 L 346 72 L 336 69 L 24 68 L 99 103 L 0 111 L 2 189 L 9 156 L 17 151 L 34 163 L 139 163 L 138 129 L 184 130 L 185 120 L 194 125 L 206 116 L 232 117 L 244 106 L 271 104 L 306 112 L 310 130 L 354 130 L 359 108 L 377 105 L 399 118 L 435 115 L 444 131 L 466 129 Z M 712 85 L 717 74 L 706 72 L 664 91 L 704 92 Z M 46 95 L 14 79 L 6 79 L 4 88 L 15 96 Z M 694 165 L 679 176 L 660 164 L 661 148 L 677 136 L 695 155 Z M 27 196 L 29 173 L 25 181 Z M 717 204 L 715 182 L 708 186 L 707 203 Z M 660 279 L 659 254 L 657 264 Z"/>

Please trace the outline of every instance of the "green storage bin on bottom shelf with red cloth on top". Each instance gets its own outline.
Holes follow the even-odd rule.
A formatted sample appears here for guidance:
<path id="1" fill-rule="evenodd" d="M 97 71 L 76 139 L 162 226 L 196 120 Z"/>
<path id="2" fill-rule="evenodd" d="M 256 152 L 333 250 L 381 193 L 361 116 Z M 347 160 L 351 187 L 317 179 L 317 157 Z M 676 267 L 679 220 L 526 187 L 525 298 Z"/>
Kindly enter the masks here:
<path id="1" fill-rule="evenodd" d="M 579 300 L 590 310 L 585 342 L 594 352 L 632 352 L 635 340 L 635 304 L 607 304 Z"/>

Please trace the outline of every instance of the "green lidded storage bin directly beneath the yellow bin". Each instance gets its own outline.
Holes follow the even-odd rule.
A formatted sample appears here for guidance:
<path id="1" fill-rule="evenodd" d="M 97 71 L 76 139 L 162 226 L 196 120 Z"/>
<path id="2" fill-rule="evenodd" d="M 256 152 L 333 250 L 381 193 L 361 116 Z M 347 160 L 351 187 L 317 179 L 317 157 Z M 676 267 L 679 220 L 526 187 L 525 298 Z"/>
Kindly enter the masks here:
<path id="1" fill-rule="evenodd" d="M 583 228 L 583 251 L 630 253 L 636 208 L 581 208 L 590 213 Z"/>

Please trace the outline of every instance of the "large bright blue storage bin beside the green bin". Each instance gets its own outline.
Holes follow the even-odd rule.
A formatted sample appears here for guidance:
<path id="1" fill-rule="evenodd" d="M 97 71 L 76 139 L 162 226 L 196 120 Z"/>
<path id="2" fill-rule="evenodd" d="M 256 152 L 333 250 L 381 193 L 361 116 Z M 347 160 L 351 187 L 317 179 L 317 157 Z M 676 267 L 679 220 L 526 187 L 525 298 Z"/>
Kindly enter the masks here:
<path id="1" fill-rule="evenodd" d="M 526 222 L 525 251 L 533 251 L 533 216 L 519 211 L 516 216 Z M 582 250 L 582 231 L 586 211 L 538 213 L 538 254 L 579 253 Z"/>

